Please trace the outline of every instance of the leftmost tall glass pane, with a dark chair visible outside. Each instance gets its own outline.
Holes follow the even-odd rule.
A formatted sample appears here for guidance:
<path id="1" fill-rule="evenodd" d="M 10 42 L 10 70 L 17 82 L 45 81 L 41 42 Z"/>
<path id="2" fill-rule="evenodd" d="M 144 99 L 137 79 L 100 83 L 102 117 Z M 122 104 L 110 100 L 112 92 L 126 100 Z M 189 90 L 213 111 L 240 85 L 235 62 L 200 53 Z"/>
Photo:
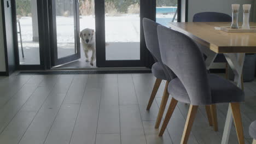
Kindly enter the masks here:
<path id="1" fill-rule="evenodd" d="M 20 64 L 40 64 L 37 0 L 16 0 Z"/>

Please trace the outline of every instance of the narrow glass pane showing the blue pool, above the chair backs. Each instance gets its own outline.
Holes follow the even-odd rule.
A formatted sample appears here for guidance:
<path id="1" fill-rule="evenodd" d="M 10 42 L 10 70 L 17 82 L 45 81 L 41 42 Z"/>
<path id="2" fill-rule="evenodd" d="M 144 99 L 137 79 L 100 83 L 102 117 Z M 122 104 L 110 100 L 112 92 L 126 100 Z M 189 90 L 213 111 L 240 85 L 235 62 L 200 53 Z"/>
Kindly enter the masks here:
<path id="1" fill-rule="evenodd" d="M 166 27 L 169 22 L 177 22 L 177 0 L 156 1 L 156 22 Z"/>

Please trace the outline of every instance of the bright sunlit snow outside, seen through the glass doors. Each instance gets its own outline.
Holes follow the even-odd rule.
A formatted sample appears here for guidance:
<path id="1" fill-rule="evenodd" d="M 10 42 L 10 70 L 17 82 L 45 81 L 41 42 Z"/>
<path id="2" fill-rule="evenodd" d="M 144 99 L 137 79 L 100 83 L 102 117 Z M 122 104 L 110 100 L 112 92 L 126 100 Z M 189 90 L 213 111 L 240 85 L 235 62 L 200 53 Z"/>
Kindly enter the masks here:
<path id="1" fill-rule="evenodd" d="M 163 20 L 170 22 L 173 14 L 156 16 L 156 21 Z M 80 16 L 80 30 L 84 28 L 95 29 L 95 17 Z M 106 41 L 107 42 L 138 42 L 139 41 L 139 15 L 123 14 L 120 16 L 106 16 Z M 22 41 L 32 40 L 32 18 L 21 17 L 20 19 Z M 73 17 L 56 17 L 58 43 L 74 42 L 74 19 Z M 97 30 L 97 29 L 96 29 Z"/>

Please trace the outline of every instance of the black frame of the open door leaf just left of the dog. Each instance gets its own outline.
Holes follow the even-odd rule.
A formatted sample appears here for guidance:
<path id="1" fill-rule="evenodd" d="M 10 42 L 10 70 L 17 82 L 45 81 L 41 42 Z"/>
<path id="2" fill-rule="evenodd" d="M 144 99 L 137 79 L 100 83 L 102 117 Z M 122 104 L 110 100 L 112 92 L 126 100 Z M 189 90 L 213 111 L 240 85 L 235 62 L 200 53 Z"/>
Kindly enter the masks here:
<path id="1" fill-rule="evenodd" d="M 77 53 L 66 57 L 58 58 L 57 47 L 57 31 L 56 31 L 56 0 L 48 1 L 49 7 L 49 28 L 50 28 L 50 44 L 51 49 L 51 67 L 56 65 L 75 61 L 80 58 L 80 39 L 79 39 L 79 3 L 74 0 L 74 36 L 75 36 L 75 49 Z"/>

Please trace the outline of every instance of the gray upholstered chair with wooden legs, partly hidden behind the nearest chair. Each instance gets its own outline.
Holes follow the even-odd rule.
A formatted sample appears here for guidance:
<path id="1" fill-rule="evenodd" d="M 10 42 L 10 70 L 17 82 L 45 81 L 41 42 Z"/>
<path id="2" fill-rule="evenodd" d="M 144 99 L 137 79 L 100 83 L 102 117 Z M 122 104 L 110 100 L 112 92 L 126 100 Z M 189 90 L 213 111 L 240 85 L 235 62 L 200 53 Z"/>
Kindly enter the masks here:
<path id="1" fill-rule="evenodd" d="M 162 97 L 162 101 L 161 101 L 161 105 L 160 105 L 160 109 L 159 109 L 159 113 L 158 113 L 158 118 L 156 119 L 155 128 L 159 128 L 159 125 L 160 125 L 160 122 L 162 119 L 162 115 L 164 114 L 166 103 L 167 103 L 167 100 L 169 97 L 169 93 L 167 90 L 168 83 L 172 79 L 176 78 L 176 75 L 174 75 L 171 70 L 169 70 L 170 73 L 168 73 L 168 70 L 167 70 L 168 68 L 162 63 L 160 50 L 159 50 L 159 43 L 158 43 L 158 33 L 157 33 L 158 25 L 159 25 L 159 23 L 156 23 L 152 20 L 149 20 L 146 18 L 143 19 L 143 28 L 144 28 L 146 45 L 147 45 L 148 50 L 150 51 L 150 53 L 152 53 L 152 55 L 156 61 L 152 67 L 152 73 L 156 77 L 156 81 L 155 81 L 155 85 L 154 85 L 152 94 L 150 96 L 149 102 L 148 102 L 147 110 L 149 110 L 150 106 L 152 105 L 152 102 L 155 98 L 155 94 L 158 91 L 161 81 L 166 80 L 165 90 L 164 90 L 164 94 Z M 212 125 L 210 106 L 206 106 L 206 112 L 207 112 L 209 123 L 210 123 L 210 125 Z"/>

